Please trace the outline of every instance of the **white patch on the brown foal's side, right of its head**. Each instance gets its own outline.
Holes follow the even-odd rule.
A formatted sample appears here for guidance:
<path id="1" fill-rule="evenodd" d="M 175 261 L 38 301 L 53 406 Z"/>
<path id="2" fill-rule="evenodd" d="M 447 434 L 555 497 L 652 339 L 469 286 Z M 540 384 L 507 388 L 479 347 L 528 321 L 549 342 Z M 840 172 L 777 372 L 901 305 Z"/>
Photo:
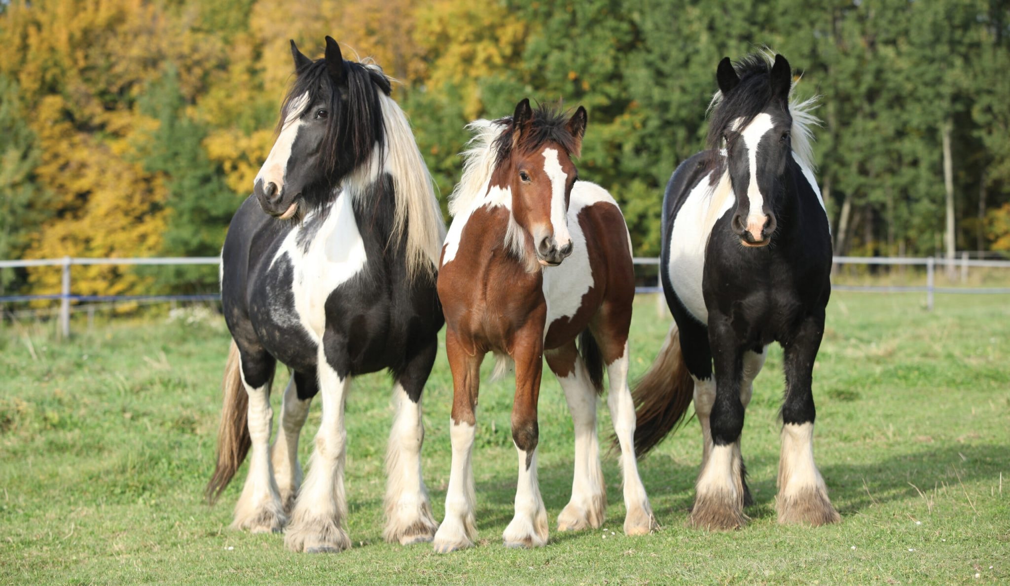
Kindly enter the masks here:
<path id="1" fill-rule="evenodd" d="M 547 302 L 547 319 L 543 334 L 550 324 L 563 317 L 573 317 L 582 307 L 582 298 L 595 283 L 589 265 L 586 234 L 579 223 L 579 213 L 596 203 L 605 202 L 617 207 L 614 198 L 599 185 L 577 181 L 572 187 L 569 203 L 568 225 L 572 238 L 572 255 L 557 267 L 543 268 L 543 298 Z"/>

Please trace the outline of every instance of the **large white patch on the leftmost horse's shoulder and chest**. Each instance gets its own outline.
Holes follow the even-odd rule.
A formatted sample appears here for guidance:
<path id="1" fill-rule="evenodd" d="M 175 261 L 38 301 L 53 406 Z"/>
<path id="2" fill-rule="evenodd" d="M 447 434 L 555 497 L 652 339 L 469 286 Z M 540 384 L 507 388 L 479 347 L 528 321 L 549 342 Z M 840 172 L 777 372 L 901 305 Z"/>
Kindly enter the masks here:
<path id="1" fill-rule="evenodd" d="M 368 259 L 365 241 L 358 231 L 350 194 L 337 196 L 308 251 L 303 252 L 298 246 L 298 234 L 305 225 L 303 222 L 284 238 L 271 262 L 271 270 L 278 259 L 288 256 L 294 270 L 291 290 L 295 312 L 305 331 L 319 344 L 326 325 L 326 299 L 334 289 L 360 273 Z"/>

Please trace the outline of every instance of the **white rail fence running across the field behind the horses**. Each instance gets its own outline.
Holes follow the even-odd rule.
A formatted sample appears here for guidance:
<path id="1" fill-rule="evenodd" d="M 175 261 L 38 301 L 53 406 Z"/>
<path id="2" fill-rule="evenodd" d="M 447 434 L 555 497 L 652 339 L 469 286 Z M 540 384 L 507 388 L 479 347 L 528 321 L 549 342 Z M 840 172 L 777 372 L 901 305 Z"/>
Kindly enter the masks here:
<path id="1" fill-rule="evenodd" d="M 635 265 L 658 266 L 660 259 L 652 257 L 636 257 L 633 259 Z M 64 336 L 70 335 L 70 313 L 72 302 L 96 302 L 96 301 L 189 301 L 189 300 L 213 300 L 219 298 L 217 294 L 207 295 L 74 295 L 72 293 L 71 267 L 75 265 L 218 265 L 220 259 L 217 257 L 178 257 L 178 258 L 139 258 L 139 259 L 84 259 L 64 257 L 62 259 L 33 259 L 20 261 L 0 261 L 0 269 L 14 269 L 25 267 L 61 267 L 63 271 L 62 287 L 60 294 L 50 295 L 8 295 L 0 296 L 0 303 L 25 302 L 36 300 L 59 300 L 60 301 L 60 331 Z M 906 257 L 834 257 L 834 266 L 839 265 L 903 265 L 920 266 L 926 268 L 926 284 L 911 286 L 887 286 L 887 285 L 838 285 L 832 284 L 831 288 L 836 291 L 864 291 L 880 293 L 897 292 L 923 292 L 926 293 L 926 307 L 933 308 L 933 296 L 936 293 L 953 294 L 1010 294 L 1010 287 L 937 287 L 936 267 L 951 266 L 952 269 L 961 272 L 962 281 L 968 279 L 970 268 L 1001 268 L 1010 269 L 1010 261 L 989 261 L 974 260 L 965 253 L 961 258 L 954 260 L 926 258 L 906 258 Z M 662 287 L 636 287 L 636 293 L 660 293 Z"/>

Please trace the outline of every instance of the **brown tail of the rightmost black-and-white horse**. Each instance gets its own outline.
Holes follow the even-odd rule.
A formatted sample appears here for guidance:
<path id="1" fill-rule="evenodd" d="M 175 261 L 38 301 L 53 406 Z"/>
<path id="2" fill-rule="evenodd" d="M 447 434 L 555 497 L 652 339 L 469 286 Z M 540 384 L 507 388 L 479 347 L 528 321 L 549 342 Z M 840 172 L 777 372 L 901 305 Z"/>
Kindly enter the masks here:
<path id="1" fill-rule="evenodd" d="M 694 398 L 694 381 L 684 363 L 675 323 L 645 376 L 631 392 L 636 411 L 634 451 L 643 456 L 673 431 Z"/>

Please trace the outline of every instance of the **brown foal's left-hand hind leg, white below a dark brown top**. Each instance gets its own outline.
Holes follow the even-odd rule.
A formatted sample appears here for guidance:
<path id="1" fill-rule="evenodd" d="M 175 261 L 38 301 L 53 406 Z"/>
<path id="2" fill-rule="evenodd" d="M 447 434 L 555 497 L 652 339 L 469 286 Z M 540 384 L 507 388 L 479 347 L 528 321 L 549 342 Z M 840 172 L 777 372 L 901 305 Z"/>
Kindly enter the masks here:
<path id="1" fill-rule="evenodd" d="M 575 425 L 575 476 L 572 500 L 558 515 L 558 530 L 572 531 L 603 524 L 607 489 L 600 467 L 600 444 L 596 436 L 596 389 L 575 340 L 544 353 L 547 366 L 558 377 Z"/>

